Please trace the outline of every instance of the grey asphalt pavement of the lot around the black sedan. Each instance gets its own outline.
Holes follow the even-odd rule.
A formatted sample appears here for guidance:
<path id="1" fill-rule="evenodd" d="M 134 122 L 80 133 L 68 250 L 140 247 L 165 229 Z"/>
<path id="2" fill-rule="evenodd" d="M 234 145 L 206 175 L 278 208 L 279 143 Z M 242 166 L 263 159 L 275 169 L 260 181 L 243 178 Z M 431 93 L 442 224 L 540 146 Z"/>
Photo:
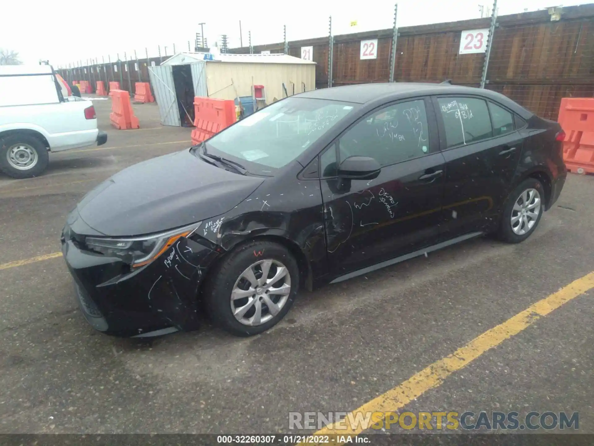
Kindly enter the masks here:
<path id="1" fill-rule="evenodd" d="M 479 238 L 302 291 L 285 321 L 252 338 L 207 319 L 197 332 L 109 337 L 75 302 L 58 254 L 65 216 L 115 172 L 189 146 L 191 129 L 163 127 L 144 104 L 139 130 L 114 130 L 110 101 L 94 105 L 105 146 L 52 153 L 37 178 L 0 175 L 0 433 L 312 433 L 290 429 L 289 413 L 365 407 L 594 271 L 594 177 L 570 174 L 524 243 Z M 399 412 L 579 412 L 579 432 L 594 433 L 586 288 Z"/>

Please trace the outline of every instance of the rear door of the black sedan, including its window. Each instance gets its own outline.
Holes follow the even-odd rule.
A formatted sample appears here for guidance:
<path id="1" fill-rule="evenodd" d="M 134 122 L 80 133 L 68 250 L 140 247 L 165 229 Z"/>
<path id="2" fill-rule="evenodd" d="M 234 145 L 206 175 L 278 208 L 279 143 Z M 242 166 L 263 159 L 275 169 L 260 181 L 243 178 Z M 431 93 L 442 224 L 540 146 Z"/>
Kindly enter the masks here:
<path id="1" fill-rule="evenodd" d="M 497 223 L 522 152 L 513 114 L 479 96 L 434 98 L 445 157 L 445 238 Z"/>

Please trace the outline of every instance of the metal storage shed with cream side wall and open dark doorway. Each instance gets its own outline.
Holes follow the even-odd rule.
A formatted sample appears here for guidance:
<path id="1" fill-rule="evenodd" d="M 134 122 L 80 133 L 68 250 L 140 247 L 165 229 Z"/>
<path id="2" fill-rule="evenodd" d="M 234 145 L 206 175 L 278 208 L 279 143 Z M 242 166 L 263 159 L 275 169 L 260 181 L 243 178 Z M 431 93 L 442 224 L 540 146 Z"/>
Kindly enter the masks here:
<path id="1" fill-rule="evenodd" d="M 271 103 L 274 98 L 282 99 L 286 95 L 315 89 L 315 62 L 286 54 L 180 53 L 171 56 L 160 67 L 150 67 L 150 71 L 164 125 L 184 125 L 184 115 L 193 120 L 189 89 L 179 87 L 182 82 L 179 78 L 185 76 L 187 79 L 189 71 L 194 96 L 232 100 L 237 96 L 251 96 L 255 84 L 264 86 L 267 103 Z M 187 80 L 185 84 L 189 86 Z M 184 92 L 187 98 L 180 98 Z M 178 106 L 173 106 L 175 103 Z"/>

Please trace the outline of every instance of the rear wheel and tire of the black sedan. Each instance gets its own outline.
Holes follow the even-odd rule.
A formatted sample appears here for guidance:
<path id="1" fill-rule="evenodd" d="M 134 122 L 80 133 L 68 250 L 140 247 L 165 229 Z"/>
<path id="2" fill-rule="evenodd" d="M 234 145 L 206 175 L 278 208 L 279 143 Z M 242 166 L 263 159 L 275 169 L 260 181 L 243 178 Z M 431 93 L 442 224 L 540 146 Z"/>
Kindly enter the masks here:
<path id="1" fill-rule="evenodd" d="M 507 198 L 498 237 L 508 243 L 520 243 L 530 237 L 545 211 L 545 193 L 536 178 L 522 181 Z"/>

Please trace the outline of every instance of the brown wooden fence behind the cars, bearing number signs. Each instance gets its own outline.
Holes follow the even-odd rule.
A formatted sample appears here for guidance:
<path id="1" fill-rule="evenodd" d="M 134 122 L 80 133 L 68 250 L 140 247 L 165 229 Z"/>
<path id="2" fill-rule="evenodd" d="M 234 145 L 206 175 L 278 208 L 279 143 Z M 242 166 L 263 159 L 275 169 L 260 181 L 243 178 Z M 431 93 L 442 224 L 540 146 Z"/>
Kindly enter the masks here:
<path id="1" fill-rule="evenodd" d="M 394 81 L 441 82 L 478 87 L 485 54 L 459 54 L 463 30 L 488 28 L 490 18 L 464 20 L 399 29 L 394 61 Z M 392 29 L 334 36 L 333 86 L 387 82 L 390 79 Z M 360 58 L 361 40 L 378 39 L 377 58 Z M 317 63 L 316 87 L 328 86 L 328 37 L 289 42 L 289 54 L 301 57 L 301 47 L 312 46 Z M 254 46 L 254 52 L 282 53 L 283 42 Z M 245 54 L 249 48 L 230 49 Z M 159 65 L 160 58 L 128 61 L 128 72 L 116 72 L 114 65 L 94 67 L 105 81 L 120 80 L 121 87 L 134 92 L 140 78 L 149 81 L 147 62 Z M 87 73 L 83 73 L 87 68 Z M 74 68 L 74 78 L 93 81 L 89 67 Z M 67 76 L 67 70 L 61 70 Z M 97 78 L 97 74 L 95 74 Z M 77 79 L 78 80 L 78 79 Z M 503 15 L 497 19 L 492 39 L 491 58 L 486 73 L 488 89 L 504 93 L 541 117 L 556 120 L 561 98 L 594 96 L 594 4 L 563 8 L 558 21 L 551 21 L 547 10 Z"/>

